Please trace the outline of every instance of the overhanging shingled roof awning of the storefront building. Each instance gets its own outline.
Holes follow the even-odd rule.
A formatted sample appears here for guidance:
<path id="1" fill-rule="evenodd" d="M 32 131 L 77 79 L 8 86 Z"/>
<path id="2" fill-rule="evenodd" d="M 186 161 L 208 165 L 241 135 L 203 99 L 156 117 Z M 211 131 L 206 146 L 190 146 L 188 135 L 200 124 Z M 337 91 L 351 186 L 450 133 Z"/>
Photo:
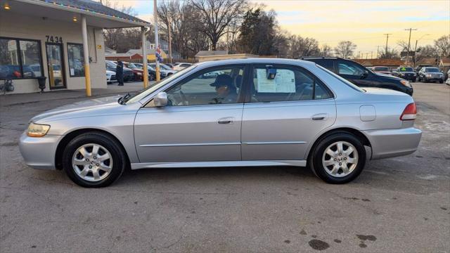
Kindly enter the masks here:
<path id="1" fill-rule="evenodd" d="M 105 29 L 150 26 L 150 22 L 91 0 L 15 0 L 9 1 L 9 6 L 13 13 L 64 22 L 81 20 L 85 15 L 87 25 Z"/>

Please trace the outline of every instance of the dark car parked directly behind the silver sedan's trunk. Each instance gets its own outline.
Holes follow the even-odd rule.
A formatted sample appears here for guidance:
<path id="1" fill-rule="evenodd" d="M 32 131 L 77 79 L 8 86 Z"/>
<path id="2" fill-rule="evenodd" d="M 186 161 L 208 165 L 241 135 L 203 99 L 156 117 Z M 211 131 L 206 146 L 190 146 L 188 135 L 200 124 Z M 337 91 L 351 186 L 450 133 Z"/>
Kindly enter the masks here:
<path id="1" fill-rule="evenodd" d="M 321 65 L 356 86 L 392 89 L 413 95 L 413 87 L 408 81 L 389 74 L 376 74 L 353 60 L 338 57 L 303 57 L 301 60 L 309 60 Z"/>

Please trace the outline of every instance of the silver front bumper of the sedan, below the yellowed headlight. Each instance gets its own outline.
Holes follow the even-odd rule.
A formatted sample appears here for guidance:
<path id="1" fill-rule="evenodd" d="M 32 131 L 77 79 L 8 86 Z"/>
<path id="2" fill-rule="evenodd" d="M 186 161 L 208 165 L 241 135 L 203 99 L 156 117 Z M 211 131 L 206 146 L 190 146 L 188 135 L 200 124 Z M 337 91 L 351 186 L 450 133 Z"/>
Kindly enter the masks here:
<path id="1" fill-rule="evenodd" d="M 19 150 L 25 164 L 34 169 L 56 169 L 55 154 L 61 138 L 63 136 L 30 137 L 23 132 L 20 136 Z"/>

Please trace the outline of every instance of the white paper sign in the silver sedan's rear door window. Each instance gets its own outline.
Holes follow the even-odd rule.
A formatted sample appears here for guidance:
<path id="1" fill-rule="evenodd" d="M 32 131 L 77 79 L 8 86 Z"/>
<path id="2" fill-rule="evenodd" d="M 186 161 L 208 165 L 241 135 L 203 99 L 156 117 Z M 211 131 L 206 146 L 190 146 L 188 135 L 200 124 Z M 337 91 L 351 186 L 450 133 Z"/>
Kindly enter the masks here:
<path id="1" fill-rule="evenodd" d="M 276 70 L 275 79 L 267 79 L 265 69 L 257 69 L 259 93 L 295 93 L 295 74 L 292 70 Z"/>

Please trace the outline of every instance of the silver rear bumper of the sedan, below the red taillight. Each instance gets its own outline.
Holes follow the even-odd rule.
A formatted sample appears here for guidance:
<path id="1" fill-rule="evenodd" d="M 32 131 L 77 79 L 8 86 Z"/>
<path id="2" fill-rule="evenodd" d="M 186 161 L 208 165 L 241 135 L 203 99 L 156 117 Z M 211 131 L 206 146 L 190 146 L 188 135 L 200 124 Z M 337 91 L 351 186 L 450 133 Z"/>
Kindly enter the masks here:
<path id="1" fill-rule="evenodd" d="M 414 153 L 422 131 L 413 127 L 364 131 L 372 146 L 372 159 L 397 157 Z"/>

